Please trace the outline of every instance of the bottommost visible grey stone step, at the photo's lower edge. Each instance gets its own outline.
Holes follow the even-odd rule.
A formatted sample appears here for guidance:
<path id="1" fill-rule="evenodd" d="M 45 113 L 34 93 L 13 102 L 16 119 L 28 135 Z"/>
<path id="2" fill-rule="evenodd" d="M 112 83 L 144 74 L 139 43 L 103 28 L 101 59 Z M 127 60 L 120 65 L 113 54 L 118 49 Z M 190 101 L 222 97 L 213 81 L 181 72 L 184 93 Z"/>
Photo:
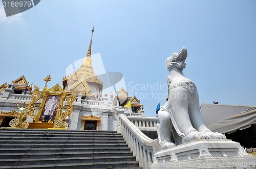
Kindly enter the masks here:
<path id="1" fill-rule="evenodd" d="M 20 164 L 20 165 L 18 165 Z M 0 168 L 70 168 L 70 169 L 84 169 L 84 168 L 122 168 L 122 169 L 135 169 L 140 168 L 137 161 L 116 161 L 116 162 L 90 162 L 90 163 L 60 163 L 60 164 L 44 164 L 44 165 L 23 165 L 16 163 L 15 166 L 0 166 Z"/>

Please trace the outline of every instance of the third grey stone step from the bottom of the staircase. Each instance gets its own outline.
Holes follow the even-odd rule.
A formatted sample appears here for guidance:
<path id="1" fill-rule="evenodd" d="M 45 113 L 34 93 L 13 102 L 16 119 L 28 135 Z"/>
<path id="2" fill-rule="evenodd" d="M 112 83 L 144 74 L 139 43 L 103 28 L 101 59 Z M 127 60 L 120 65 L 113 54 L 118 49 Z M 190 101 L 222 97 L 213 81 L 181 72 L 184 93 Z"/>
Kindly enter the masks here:
<path id="1" fill-rule="evenodd" d="M 33 151 L 23 153 L 1 153 L 0 159 L 20 159 L 20 158 L 65 158 L 65 157 L 116 157 L 116 156 L 133 156 L 131 151 L 117 152 L 53 152 L 53 153 L 34 153 Z"/>

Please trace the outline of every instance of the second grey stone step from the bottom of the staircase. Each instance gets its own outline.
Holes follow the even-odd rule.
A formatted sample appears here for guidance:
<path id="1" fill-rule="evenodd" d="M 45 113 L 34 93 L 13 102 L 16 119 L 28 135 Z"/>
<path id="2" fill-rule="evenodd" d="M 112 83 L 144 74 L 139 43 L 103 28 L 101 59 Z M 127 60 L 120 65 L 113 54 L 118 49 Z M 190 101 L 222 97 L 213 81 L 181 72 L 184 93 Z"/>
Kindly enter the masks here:
<path id="1" fill-rule="evenodd" d="M 44 165 L 58 163 L 91 163 L 91 162 L 117 162 L 117 161 L 135 161 L 135 156 L 116 156 L 116 157 L 62 157 L 62 158 L 21 158 L 21 159 L 0 159 L 1 165 Z"/>

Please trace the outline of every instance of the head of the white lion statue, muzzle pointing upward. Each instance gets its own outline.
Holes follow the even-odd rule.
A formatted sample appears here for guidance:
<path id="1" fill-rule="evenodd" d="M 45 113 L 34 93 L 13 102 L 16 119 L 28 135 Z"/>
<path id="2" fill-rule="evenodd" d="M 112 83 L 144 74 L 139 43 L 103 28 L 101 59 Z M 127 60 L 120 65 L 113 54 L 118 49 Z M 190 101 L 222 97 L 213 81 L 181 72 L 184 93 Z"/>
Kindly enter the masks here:
<path id="1" fill-rule="evenodd" d="M 173 53 L 171 57 L 168 57 L 166 59 L 165 61 L 166 68 L 168 70 L 172 69 L 173 67 L 185 68 L 186 58 L 187 58 L 187 49 L 185 47 L 182 47 L 179 53 Z"/>

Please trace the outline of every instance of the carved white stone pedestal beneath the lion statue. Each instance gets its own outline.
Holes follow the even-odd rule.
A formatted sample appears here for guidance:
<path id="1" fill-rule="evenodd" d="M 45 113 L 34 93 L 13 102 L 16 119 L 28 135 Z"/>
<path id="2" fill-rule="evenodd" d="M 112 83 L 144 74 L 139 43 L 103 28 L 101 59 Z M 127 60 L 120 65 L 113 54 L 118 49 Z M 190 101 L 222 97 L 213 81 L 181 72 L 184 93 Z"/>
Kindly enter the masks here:
<path id="1" fill-rule="evenodd" d="M 158 151 L 151 168 L 256 168 L 256 158 L 232 140 L 197 140 Z"/>

